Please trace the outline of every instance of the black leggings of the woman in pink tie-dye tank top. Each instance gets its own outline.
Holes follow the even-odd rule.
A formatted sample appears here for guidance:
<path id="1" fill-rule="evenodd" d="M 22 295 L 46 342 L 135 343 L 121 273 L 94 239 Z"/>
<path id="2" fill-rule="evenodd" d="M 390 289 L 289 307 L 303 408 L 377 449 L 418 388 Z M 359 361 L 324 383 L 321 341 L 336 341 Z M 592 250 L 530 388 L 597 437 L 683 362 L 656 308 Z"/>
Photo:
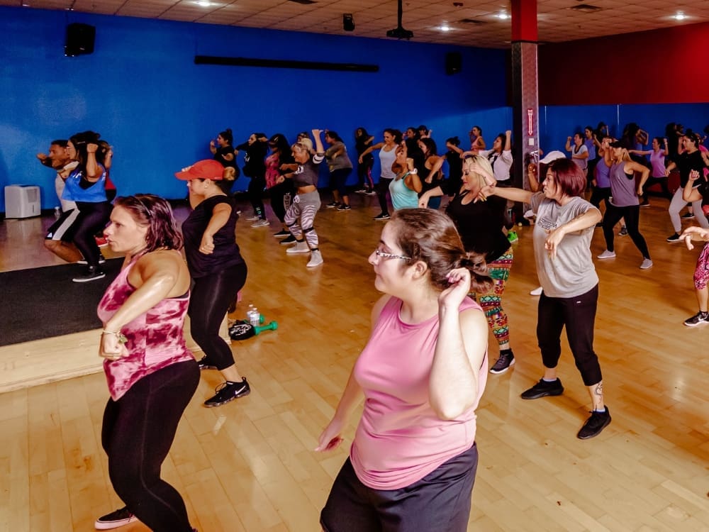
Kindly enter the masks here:
<path id="1" fill-rule="evenodd" d="M 196 362 L 178 362 L 143 377 L 121 399 L 106 404 L 101 445 L 113 489 L 153 531 L 192 531 L 184 501 L 160 478 L 160 467 L 197 384 Z"/>

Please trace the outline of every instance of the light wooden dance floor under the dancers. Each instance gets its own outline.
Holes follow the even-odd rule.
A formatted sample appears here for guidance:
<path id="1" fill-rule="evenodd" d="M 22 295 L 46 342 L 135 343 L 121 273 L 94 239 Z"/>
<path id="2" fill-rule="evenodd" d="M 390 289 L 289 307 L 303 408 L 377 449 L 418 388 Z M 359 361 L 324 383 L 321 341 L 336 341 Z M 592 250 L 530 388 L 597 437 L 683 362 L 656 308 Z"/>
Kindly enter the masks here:
<path id="1" fill-rule="evenodd" d="M 537 298 L 528 294 L 535 267 L 529 230 L 520 232 L 504 300 L 517 364 L 490 375 L 479 407 L 469 531 L 709 531 L 709 327 L 682 324 L 696 313 L 699 248 L 665 243 L 667 201 L 651 201 L 641 230 L 654 267 L 638 269 L 628 237 L 616 238 L 618 258 L 597 262 L 596 351 L 613 423 L 593 440 L 575 437 L 589 404 L 565 343 L 564 395 L 519 397 L 541 375 Z M 306 256 L 286 256 L 272 237 L 276 223 L 269 231 L 239 222 L 249 278 L 237 314 L 253 302 L 279 328 L 233 346 L 250 396 L 205 409 L 220 379 L 202 373 L 164 463 L 201 532 L 319 530 L 354 425 L 341 450 L 313 448 L 377 298 L 367 255 L 381 231 L 372 221 L 379 209 L 369 196 L 352 204 L 318 214 L 325 264 L 312 270 Z M 0 223 L 0 270 L 58 262 L 41 243 L 51 221 Z M 597 230 L 593 253 L 604 248 Z M 494 342 L 490 353 L 495 360 Z M 101 374 L 0 394 L 0 531 L 90 531 L 96 516 L 121 505 L 99 441 L 107 398 Z"/>

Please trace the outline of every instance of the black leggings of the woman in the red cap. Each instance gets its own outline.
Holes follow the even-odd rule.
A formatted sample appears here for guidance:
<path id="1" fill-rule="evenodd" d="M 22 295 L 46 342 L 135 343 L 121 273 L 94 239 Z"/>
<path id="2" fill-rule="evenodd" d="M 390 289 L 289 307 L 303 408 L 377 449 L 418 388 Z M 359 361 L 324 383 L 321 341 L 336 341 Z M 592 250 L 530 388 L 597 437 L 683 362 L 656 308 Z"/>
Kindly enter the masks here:
<path id="1" fill-rule="evenodd" d="M 246 273 L 246 265 L 242 263 L 194 279 L 187 311 L 190 333 L 218 370 L 234 365 L 231 348 L 219 336 L 219 326 L 236 294 L 244 286 Z"/>

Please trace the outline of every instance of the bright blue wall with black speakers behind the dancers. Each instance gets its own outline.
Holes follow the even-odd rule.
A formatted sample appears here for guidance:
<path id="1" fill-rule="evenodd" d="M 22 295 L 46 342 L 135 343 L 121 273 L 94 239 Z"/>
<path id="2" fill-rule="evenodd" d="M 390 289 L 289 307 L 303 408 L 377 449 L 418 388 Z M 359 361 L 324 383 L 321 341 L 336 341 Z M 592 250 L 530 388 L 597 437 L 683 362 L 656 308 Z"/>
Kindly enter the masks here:
<path id="1" fill-rule="evenodd" d="M 64 57 L 72 22 L 96 26 L 92 55 Z M 0 35 L 0 187 L 39 184 L 44 209 L 57 205 L 54 174 L 35 154 L 53 138 L 86 129 L 113 145 L 119 194 L 174 199 L 185 187 L 173 172 L 211 157 L 208 140 L 227 127 L 235 143 L 253 131 L 293 140 L 298 131 L 329 128 L 352 153 L 357 126 L 379 140 L 385 127 L 425 123 L 443 149 L 449 136 L 467 143 L 473 123 L 490 140 L 511 123 L 502 50 L 21 8 L 0 8 Z M 449 51 L 463 55 L 462 72 L 453 76 L 444 68 Z M 357 62 L 380 70 L 217 67 L 194 65 L 194 55 Z M 246 186 L 240 178 L 237 188 Z"/>

